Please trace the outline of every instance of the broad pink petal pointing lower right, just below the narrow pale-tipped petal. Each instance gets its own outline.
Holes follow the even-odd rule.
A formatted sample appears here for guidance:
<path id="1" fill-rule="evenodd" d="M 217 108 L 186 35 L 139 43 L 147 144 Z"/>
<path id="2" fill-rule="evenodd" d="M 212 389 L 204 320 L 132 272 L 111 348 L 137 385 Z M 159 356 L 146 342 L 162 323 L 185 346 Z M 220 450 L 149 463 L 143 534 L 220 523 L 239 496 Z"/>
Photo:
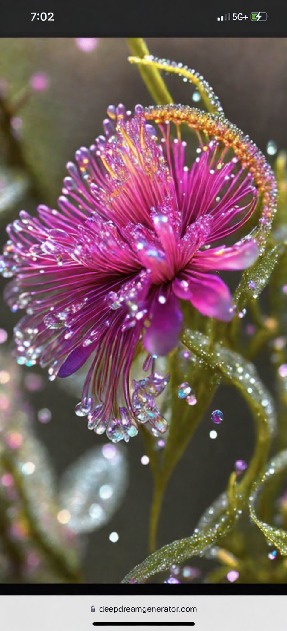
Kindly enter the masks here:
<path id="1" fill-rule="evenodd" d="M 232 296 L 219 276 L 214 274 L 182 274 L 173 281 L 172 289 L 177 297 L 190 300 L 203 315 L 229 322 L 233 317 Z"/>

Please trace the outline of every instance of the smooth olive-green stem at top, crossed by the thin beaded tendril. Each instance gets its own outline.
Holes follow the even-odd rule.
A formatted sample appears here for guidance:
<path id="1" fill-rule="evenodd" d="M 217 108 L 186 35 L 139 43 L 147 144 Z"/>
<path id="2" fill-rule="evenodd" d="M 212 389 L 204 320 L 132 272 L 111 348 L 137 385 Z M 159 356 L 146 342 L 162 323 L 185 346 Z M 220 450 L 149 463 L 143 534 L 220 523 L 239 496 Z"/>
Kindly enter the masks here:
<path id="1" fill-rule="evenodd" d="M 146 42 L 144 42 L 141 37 L 127 37 L 127 44 L 129 45 L 132 55 L 141 58 L 149 55 Z M 170 95 L 165 82 L 161 78 L 160 71 L 158 71 L 157 68 L 139 66 L 139 73 L 157 105 L 173 103 L 172 95 Z"/>

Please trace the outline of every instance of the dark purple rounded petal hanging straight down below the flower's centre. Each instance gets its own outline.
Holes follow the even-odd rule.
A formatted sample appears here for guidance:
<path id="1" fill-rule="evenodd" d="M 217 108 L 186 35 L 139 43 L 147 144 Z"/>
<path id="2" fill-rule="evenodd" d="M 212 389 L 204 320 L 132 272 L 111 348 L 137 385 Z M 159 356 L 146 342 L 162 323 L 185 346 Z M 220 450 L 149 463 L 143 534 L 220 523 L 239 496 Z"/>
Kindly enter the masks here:
<path id="1" fill-rule="evenodd" d="M 182 312 L 179 300 L 170 292 L 167 302 L 158 302 L 158 295 L 152 306 L 151 325 L 144 334 L 144 348 L 151 355 L 167 355 L 179 341 L 182 327 Z"/>

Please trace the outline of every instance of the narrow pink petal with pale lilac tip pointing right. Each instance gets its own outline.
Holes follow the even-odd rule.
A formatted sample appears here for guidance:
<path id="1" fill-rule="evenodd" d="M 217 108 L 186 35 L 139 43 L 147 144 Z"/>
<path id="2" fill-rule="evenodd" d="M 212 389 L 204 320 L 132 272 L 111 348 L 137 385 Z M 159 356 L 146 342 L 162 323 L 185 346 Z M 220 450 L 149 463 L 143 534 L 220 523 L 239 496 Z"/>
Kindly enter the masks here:
<path id="1" fill-rule="evenodd" d="M 245 269 L 254 264 L 258 256 L 258 247 L 254 240 L 232 245 L 214 247 L 204 252 L 197 252 L 192 258 L 192 268 L 209 269 Z"/>

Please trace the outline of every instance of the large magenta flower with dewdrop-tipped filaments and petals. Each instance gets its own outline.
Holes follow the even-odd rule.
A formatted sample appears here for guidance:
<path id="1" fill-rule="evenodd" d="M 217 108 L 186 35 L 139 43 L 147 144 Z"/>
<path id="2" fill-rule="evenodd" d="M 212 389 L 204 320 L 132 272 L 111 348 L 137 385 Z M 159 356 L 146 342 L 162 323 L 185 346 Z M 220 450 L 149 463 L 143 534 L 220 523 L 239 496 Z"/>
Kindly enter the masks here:
<path id="1" fill-rule="evenodd" d="M 117 441 L 138 423 L 155 435 L 167 429 L 155 397 L 169 377 L 155 373 L 155 357 L 179 341 L 180 300 L 208 317 L 233 317 L 216 272 L 252 265 L 257 245 L 219 242 L 249 219 L 257 189 L 219 139 L 201 141 L 189 167 L 186 143 L 170 139 L 170 124 L 156 131 L 141 105 L 133 117 L 121 104 L 108 115 L 105 136 L 76 151 L 78 167 L 67 164 L 60 210 L 21 211 L 8 226 L 2 270 L 15 276 L 6 288 L 11 309 L 26 309 L 15 329 L 18 362 L 49 366 L 55 379 L 91 357 L 76 411 Z M 131 395 L 139 341 L 152 370 Z"/>

